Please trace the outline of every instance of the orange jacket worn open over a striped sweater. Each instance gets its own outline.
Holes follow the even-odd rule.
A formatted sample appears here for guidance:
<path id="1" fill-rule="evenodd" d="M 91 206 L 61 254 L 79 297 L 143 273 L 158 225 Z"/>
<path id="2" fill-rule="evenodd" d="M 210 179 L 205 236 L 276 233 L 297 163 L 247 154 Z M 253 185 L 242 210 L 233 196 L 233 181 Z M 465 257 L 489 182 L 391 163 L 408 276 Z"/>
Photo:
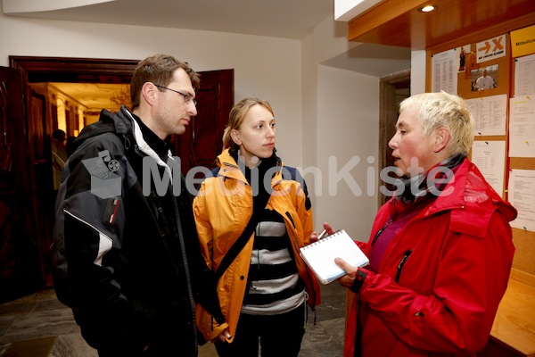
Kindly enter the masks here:
<path id="1" fill-rule="evenodd" d="M 251 186 L 228 150 L 218 156 L 218 166 L 217 175 L 202 182 L 199 194 L 193 200 L 202 255 L 214 271 L 218 270 L 221 260 L 240 237 L 252 214 Z M 321 302 L 319 285 L 299 255 L 299 248 L 309 244 L 314 231 L 304 180 L 297 170 L 281 163 L 276 167 L 271 187 L 273 193 L 267 207 L 284 218 L 297 270 L 305 283 L 309 306 L 314 309 Z M 233 338 L 247 288 L 252 244 L 253 239 L 250 239 L 218 281 L 219 303 Z M 196 315 L 197 326 L 207 341 L 218 336 L 225 327 L 218 326 L 210 313 L 200 306 Z"/>

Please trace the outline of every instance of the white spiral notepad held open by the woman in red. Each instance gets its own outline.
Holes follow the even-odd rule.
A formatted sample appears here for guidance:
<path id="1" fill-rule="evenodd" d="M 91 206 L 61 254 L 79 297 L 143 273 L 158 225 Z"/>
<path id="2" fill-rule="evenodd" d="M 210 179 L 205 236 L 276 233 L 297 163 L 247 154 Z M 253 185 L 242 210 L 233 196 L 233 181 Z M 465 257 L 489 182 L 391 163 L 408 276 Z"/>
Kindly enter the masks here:
<path id="1" fill-rule="evenodd" d="M 362 253 L 355 241 L 343 229 L 300 248 L 300 256 L 324 285 L 346 274 L 336 265 L 334 258 L 342 258 L 355 268 L 363 267 L 369 262 L 366 254 Z"/>

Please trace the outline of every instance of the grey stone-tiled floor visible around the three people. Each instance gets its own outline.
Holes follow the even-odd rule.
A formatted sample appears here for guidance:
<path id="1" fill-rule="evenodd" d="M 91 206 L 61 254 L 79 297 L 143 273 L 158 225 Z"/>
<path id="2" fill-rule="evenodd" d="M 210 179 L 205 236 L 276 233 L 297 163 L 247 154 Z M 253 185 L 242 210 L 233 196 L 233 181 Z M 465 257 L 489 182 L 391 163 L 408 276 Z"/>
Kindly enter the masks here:
<path id="1" fill-rule="evenodd" d="M 322 304 L 314 312 L 301 344 L 303 357 L 341 357 L 345 289 L 337 282 L 322 286 Z M 68 307 L 53 289 L 0 304 L 0 357 L 96 357 L 86 345 Z M 200 348 L 199 357 L 217 357 L 213 345 Z"/>

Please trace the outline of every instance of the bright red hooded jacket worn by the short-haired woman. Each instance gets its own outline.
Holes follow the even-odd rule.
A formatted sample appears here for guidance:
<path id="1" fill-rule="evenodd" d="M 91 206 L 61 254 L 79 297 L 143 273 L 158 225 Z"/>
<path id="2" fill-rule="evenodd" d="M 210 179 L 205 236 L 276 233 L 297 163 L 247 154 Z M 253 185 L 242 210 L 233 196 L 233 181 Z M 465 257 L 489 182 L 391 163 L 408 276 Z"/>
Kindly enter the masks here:
<path id="1" fill-rule="evenodd" d="M 432 200 L 399 230 L 377 273 L 365 270 L 359 291 L 364 357 L 470 356 L 487 343 L 513 262 L 508 222 L 516 210 L 468 159 L 454 178 L 443 191 L 453 189 L 450 195 Z M 390 204 L 377 213 L 366 253 Z M 353 300 L 345 357 L 355 344 Z"/>

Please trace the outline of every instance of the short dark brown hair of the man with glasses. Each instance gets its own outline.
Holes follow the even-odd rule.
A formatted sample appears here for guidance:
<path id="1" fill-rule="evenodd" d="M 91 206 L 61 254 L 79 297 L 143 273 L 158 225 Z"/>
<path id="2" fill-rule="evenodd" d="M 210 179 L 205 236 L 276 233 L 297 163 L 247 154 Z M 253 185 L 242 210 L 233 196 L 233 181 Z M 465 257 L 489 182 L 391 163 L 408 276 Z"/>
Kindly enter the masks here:
<path id="1" fill-rule="evenodd" d="M 159 86 L 169 85 L 173 74 L 177 69 L 183 69 L 192 81 L 193 88 L 199 88 L 199 74 L 193 71 L 186 62 L 168 54 L 155 54 L 139 62 L 134 71 L 134 76 L 130 82 L 130 98 L 132 100 L 132 110 L 139 106 L 141 88 L 146 82 L 152 82 Z"/>

